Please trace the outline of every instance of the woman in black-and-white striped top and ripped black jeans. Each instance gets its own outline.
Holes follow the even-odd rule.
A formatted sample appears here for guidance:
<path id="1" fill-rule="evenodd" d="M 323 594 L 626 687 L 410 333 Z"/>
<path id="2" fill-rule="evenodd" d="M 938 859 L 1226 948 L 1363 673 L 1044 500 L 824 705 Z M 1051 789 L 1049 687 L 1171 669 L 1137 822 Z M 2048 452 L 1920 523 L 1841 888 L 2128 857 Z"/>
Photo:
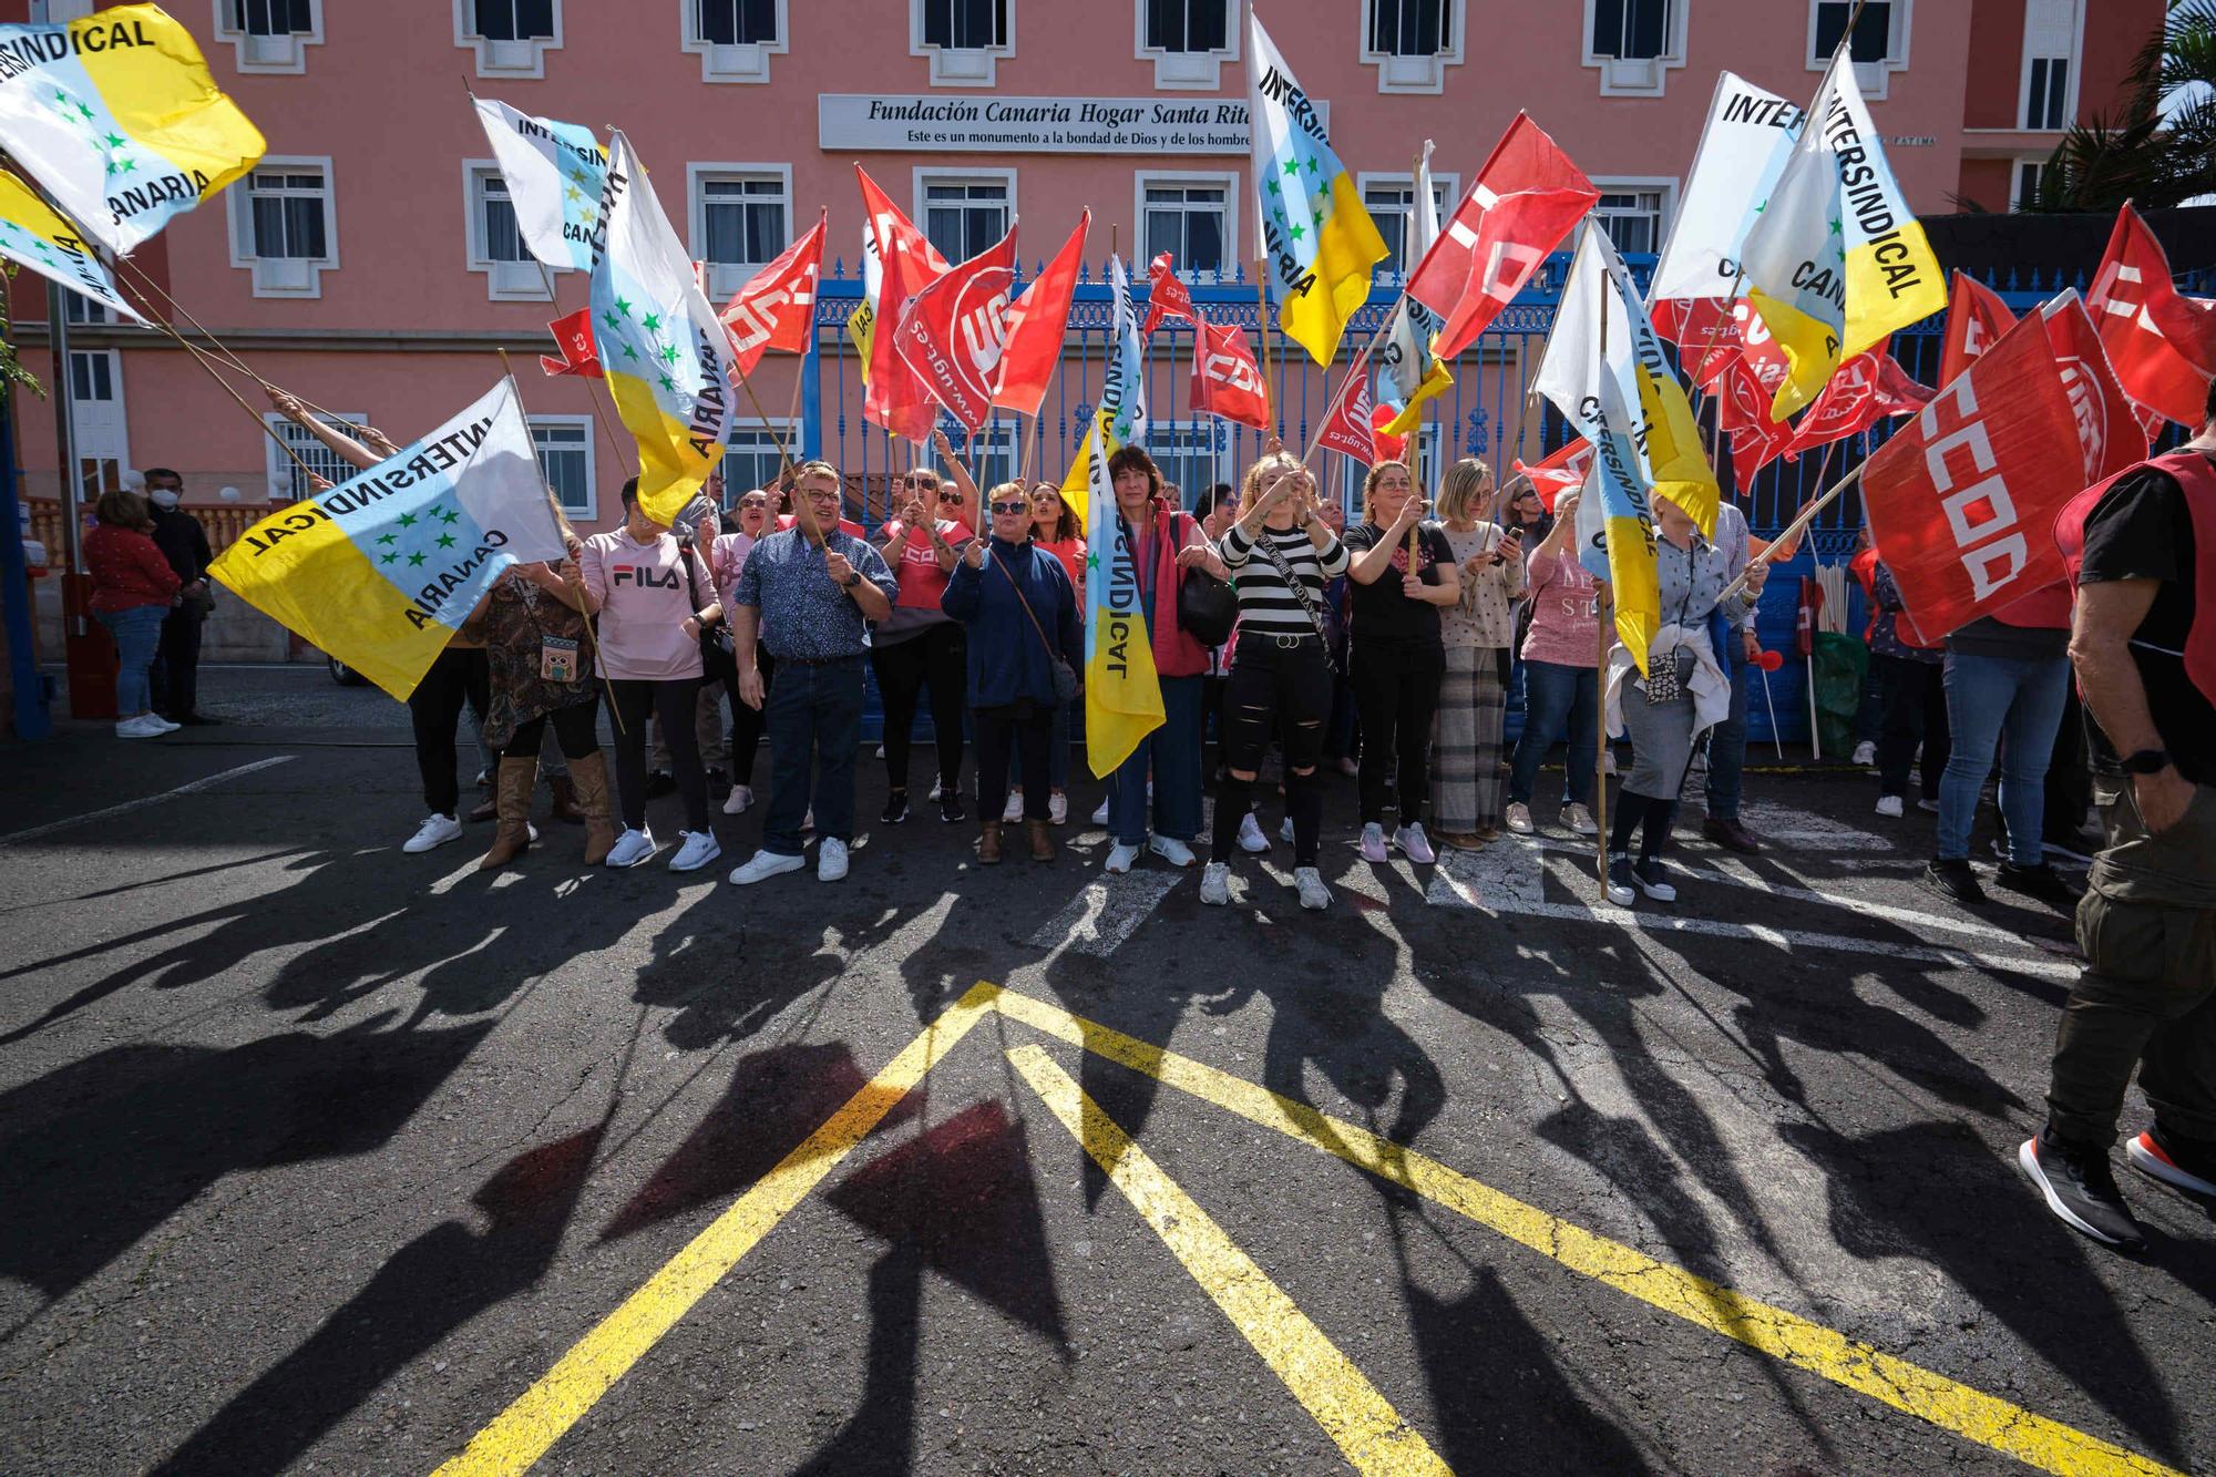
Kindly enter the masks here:
<path id="1" fill-rule="evenodd" d="M 1285 750 L 1285 809 L 1292 816 L 1292 878 L 1301 907 L 1330 907 L 1316 869 L 1323 829 L 1323 725 L 1332 716 L 1332 659 L 1323 639 L 1323 581 L 1345 574 L 1347 550 L 1316 512 L 1316 479 L 1276 452 L 1248 468 L 1239 521 L 1219 546 L 1239 590 L 1239 634 L 1223 692 L 1225 778 L 1217 790 L 1214 854 L 1201 872 L 1201 903 L 1230 903 L 1254 774 L 1276 738 Z"/>

